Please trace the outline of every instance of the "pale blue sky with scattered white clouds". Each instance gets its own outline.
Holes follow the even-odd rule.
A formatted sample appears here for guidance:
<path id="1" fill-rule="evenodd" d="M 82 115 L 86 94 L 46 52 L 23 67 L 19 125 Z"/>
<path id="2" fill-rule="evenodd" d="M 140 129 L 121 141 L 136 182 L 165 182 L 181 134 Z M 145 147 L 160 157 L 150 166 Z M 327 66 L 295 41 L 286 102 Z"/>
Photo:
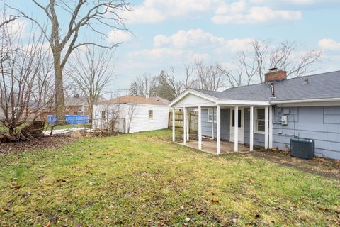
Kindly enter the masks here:
<path id="1" fill-rule="evenodd" d="M 38 15 L 30 1 L 7 1 Z M 174 67 L 183 77 L 183 62 L 220 62 L 232 70 L 237 52 L 254 38 L 295 40 L 297 52 L 323 50 L 314 72 L 340 70 L 339 0 L 145 0 L 130 1 L 123 13 L 134 35 L 106 31 L 124 41 L 116 50 L 114 89 L 128 89 L 140 74 L 157 75 Z M 37 14 L 36 14 L 37 13 Z"/>

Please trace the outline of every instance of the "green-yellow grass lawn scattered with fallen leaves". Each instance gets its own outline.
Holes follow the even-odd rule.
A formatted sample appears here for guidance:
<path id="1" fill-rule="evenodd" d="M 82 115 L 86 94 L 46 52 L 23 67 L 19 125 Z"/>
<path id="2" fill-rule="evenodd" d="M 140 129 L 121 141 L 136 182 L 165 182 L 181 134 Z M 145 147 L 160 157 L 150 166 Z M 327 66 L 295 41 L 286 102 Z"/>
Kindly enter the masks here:
<path id="1" fill-rule="evenodd" d="M 207 155 L 171 143 L 168 130 L 0 157 L 0 226 L 336 226 L 339 219 L 339 180 L 242 154 Z"/>

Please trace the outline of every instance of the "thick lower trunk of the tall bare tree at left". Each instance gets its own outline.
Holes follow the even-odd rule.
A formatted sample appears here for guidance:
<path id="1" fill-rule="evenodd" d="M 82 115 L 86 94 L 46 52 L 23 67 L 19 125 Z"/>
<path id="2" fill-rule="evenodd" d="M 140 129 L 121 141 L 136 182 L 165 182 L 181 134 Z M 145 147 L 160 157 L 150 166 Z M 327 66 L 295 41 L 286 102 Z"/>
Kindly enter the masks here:
<path id="1" fill-rule="evenodd" d="M 57 122 L 63 122 L 65 116 L 65 97 L 62 79 L 62 67 L 60 66 L 60 53 L 55 53 L 55 114 Z"/>

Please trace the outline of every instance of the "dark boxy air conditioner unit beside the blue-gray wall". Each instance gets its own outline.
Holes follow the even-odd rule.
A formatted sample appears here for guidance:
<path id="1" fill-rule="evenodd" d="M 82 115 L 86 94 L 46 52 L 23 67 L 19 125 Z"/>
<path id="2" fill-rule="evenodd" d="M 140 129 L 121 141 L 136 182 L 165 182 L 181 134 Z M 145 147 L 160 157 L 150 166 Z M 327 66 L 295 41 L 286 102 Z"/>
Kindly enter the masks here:
<path id="1" fill-rule="evenodd" d="M 314 140 L 303 138 L 290 139 L 290 150 L 292 156 L 312 159 L 315 154 Z"/>

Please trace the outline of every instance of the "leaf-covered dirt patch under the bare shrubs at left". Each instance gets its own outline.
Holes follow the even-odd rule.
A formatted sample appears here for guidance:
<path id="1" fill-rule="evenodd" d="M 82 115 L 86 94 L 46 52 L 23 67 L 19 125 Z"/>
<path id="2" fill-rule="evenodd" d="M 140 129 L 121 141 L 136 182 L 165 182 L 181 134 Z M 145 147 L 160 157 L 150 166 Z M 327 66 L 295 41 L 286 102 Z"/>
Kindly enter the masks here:
<path id="1" fill-rule="evenodd" d="M 18 143 L 0 143 L 0 154 L 32 152 L 34 150 L 61 148 L 64 145 L 78 140 L 79 137 L 67 135 L 53 135 Z"/>

